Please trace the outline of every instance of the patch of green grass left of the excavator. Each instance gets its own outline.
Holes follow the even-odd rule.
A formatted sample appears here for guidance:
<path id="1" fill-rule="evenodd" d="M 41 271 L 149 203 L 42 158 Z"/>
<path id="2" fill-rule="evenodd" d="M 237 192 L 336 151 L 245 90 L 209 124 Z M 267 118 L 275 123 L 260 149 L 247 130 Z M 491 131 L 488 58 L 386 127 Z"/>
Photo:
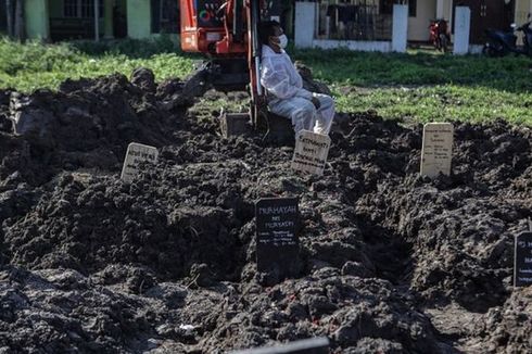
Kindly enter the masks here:
<path id="1" fill-rule="evenodd" d="M 139 66 L 151 68 L 159 80 L 185 77 L 193 71 L 198 56 L 172 51 L 168 40 L 164 36 L 155 40 L 126 40 L 107 48 L 109 45 L 88 42 L 21 45 L 0 38 L 0 88 L 12 87 L 24 92 L 55 89 L 67 78 L 111 73 L 129 76 Z M 175 49 L 173 42 L 172 46 Z M 90 51 L 93 54 L 87 53 Z"/>

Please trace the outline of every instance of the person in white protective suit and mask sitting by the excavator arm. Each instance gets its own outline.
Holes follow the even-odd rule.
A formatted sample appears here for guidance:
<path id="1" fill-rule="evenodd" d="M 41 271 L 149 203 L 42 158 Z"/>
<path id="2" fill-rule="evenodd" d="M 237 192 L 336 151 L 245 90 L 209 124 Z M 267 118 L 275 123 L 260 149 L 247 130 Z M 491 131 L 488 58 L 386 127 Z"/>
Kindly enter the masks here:
<path id="1" fill-rule="evenodd" d="M 334 101 L 303 88 L 303 79 L 284 51 L 288 39 L 280 24 L 265 21 L 258 25 L 262 42 L 261 85 L 266 89 L 270 112 L 292 121 L 297 135 L 309 130 L 328 135 L 334 117 Z"/>

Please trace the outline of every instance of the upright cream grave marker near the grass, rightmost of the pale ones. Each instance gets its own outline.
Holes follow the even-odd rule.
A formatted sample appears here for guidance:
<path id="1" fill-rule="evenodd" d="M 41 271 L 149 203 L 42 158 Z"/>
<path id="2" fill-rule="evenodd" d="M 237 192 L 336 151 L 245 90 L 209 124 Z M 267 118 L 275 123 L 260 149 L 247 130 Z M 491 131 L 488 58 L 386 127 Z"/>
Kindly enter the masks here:
<path id="1" fill-rule="evenodd" d="M 421 175 L 436 177 L 451 174 L 454 127 L 451 123 L 428 123 L 423 127 Z"/>

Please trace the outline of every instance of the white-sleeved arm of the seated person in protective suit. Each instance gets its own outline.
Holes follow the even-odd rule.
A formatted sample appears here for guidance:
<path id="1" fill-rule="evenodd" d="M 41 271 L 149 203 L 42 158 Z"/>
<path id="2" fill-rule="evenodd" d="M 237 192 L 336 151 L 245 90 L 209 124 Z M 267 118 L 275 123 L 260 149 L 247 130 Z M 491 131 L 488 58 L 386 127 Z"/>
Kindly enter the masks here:
<path id="1" fill-rule="evenodd" d="M 282 62 L 265 58 L 262 68 L 261 84 L 269 93 L 278 99 L 282 100 L 292 97 L 301 97 L 309 101 L 313 99 L 311 91 L 290 84 L 287 68 L 283 67 Z"/>

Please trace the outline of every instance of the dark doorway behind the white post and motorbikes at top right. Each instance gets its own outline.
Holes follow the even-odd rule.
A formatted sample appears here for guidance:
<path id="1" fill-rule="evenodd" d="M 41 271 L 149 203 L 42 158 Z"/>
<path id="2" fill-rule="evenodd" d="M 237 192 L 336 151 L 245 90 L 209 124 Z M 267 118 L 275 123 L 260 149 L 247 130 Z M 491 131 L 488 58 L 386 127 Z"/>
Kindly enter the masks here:
<path id="1" fill-rule="evenodd" d="M 482 45 L 485 40 L 484 29 L 508 30 L 510 28 L 514 22 L 515 2 L 516 0 L 454 0 L 453 9 L 457 5 L 469 7 L 471 10 L 470 42 Z"/>

